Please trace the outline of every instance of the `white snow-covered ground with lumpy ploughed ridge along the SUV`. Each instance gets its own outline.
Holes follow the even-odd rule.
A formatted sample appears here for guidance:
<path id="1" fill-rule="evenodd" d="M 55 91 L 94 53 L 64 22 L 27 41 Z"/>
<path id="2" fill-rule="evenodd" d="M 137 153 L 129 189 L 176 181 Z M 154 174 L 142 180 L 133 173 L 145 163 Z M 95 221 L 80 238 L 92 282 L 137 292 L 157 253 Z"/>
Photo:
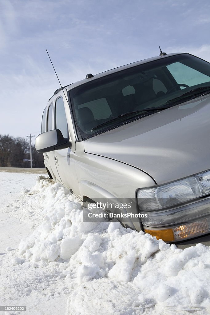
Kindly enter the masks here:
<path id="1" fill-rule="evenodd" d="M 0 173 L 0 305 L 33 315 L 210 314 L 210 249 L 178 249 L 36 174 Z M 4 313 L 4 312 L 2 312 Z"/>

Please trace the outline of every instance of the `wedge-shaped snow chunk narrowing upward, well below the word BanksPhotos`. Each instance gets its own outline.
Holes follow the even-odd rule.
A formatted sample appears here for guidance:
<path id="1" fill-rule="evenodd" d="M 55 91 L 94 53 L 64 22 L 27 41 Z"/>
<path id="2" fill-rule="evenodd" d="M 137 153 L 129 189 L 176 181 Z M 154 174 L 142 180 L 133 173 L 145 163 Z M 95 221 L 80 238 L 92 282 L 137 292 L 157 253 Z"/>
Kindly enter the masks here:
<path id="1" fill-rule="evenodd" d="M 111 279 L 115 279 L 116 281 L 129 282 L 131 271 L 133 269 L 133 264 L 135 261 L 136 253 L 133 250 L 127 256 L 123 258 L 119 258 L 116 264 L 112 267 L 112 269 L 108 273 L 108 277 Z"/>

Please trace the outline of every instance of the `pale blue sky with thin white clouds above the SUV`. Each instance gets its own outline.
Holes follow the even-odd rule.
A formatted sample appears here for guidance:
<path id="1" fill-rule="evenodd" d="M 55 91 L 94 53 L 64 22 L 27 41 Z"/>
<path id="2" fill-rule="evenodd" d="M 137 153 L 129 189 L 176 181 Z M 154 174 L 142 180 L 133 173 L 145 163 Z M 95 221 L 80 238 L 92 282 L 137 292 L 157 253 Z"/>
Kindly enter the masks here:
<path id="1" fill-rule="evenodd" d="M 38 135 L 44 107 L 62 85 L 159 54 L 210 61 L 210 2 L 2 0 L 0 134 Z M 34 139 L 34 138 L 33 138 Z"/>

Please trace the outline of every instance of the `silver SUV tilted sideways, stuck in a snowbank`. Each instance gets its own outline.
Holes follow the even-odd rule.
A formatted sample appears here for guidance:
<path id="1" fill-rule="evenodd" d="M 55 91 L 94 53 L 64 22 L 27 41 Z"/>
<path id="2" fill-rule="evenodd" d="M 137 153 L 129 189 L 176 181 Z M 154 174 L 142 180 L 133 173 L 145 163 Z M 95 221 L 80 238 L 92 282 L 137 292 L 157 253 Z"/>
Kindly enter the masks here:
<path id="1" fill-rule="evenodd" d="M 210 232 L 209 117 L 210 64 L 162 53 L 56 90 L 35 144 L 98 213 L 180 242 Z"/>

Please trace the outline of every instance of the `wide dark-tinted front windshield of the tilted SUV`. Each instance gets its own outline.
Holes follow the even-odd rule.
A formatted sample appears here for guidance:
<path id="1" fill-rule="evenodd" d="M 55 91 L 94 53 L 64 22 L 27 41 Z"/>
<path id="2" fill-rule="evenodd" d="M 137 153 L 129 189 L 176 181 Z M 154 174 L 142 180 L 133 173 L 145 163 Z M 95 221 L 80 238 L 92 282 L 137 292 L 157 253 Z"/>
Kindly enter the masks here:
<path id="1" fill-rule="evenodd" d="M 87 138 L 187 101 L 209 86 L 210 64 L 179 54 L 116 69 L 69 93 L 77 127 Z"/>

